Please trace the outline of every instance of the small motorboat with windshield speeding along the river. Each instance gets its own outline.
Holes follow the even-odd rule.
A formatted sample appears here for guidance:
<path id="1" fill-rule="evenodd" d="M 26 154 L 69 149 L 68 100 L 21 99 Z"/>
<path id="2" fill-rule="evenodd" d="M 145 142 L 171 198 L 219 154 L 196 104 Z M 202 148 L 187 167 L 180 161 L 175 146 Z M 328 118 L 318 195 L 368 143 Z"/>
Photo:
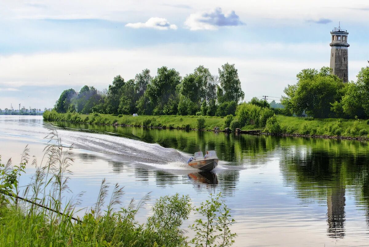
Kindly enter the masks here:
<path id="1" fill-rule="evenodd" d="M 211 171 L 218 165 L 218 157 L 214 150 L 207 151 L 204 156 L 203 152 L 195 152 L 193 158 L 191 157 L 188 161 L 190 167 L 202 170 Z"/>

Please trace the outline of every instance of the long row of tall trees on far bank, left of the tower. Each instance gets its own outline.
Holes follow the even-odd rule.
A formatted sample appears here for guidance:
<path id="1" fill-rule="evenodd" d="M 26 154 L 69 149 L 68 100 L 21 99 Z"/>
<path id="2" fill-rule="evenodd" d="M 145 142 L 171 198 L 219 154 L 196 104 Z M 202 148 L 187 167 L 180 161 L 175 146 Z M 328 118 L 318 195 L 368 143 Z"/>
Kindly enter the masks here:
<path id="1" fill-rule="evenodd" d="M 175 69 L 163 66 L 156 76 L 151 76 L 149 69 L 127 81 L 115 76 L 103 92 L 87 85 L 79 92 L 64 90 L 54 109 L 83 114 L 226 116 L 235 114 L 244 95 L 234 64 L 221 66 L 218 75 L 200 65 L 183 78 Z"/>

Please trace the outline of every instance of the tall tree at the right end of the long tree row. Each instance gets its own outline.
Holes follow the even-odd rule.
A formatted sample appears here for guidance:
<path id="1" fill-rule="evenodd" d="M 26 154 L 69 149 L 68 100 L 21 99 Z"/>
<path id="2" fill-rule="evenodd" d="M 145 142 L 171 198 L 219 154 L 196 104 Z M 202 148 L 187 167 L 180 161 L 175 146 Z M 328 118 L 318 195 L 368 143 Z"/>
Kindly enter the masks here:
<path id="1" fill-rule="evenodd" d="M 238 78 L 237 69 L 234 64 L 222 65 L 218 69 L 220 86 L 218 86 L 218 102 L 235 101 L 244 99 L 245 93 L 241 89 L 241 81 Z"/>

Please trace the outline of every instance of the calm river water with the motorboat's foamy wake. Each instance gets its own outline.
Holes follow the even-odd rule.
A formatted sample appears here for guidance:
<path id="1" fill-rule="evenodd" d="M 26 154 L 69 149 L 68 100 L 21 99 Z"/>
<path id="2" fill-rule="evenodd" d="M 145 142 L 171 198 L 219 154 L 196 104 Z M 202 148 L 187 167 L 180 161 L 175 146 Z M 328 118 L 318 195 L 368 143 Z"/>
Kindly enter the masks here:
<path id="1" fill-rule="evenodd" d="M 103 178 L 124 186 L 124 202 L 188 194 L 199 205 L 221 192 L 237 223 L 234 246 L 366 246 L 369 240 L 368 143 L 352 140 L 235 135 L 72 123 L 41 116 L 0 115 L 2 162 L 28 144 L 40 161 L 50 128 L 73 144 L 69 187 L 96 202 Z M 220 165 L 200 172 L 186 165 L 196 151 L 215 150 Z M 22 184 L 31 179 L 27 166 Z M 191 217 L 193 219 L 194 216 Z M 191 220 L 190 219 L 190 220 Z"/>

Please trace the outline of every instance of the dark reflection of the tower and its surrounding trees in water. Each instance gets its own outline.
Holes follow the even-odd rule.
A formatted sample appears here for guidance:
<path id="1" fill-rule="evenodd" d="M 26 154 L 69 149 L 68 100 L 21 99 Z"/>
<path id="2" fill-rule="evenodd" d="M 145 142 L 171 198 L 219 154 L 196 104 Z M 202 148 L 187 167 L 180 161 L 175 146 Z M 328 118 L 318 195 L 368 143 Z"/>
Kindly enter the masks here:
<path id="1" fill-rule="evenodd" d="M 352 141 L 311 140 L 283 150 L 280 167 L 286 182 L 303 202 L 327 202 L 327 236 L 345 236 L 346 186 L 356 186 L 357 200 L 368 204 L 367 144 Z M 341 147 L 332 145 L 337 143 Z M 368 213 L 367 213 L 368 215 Z"/>

